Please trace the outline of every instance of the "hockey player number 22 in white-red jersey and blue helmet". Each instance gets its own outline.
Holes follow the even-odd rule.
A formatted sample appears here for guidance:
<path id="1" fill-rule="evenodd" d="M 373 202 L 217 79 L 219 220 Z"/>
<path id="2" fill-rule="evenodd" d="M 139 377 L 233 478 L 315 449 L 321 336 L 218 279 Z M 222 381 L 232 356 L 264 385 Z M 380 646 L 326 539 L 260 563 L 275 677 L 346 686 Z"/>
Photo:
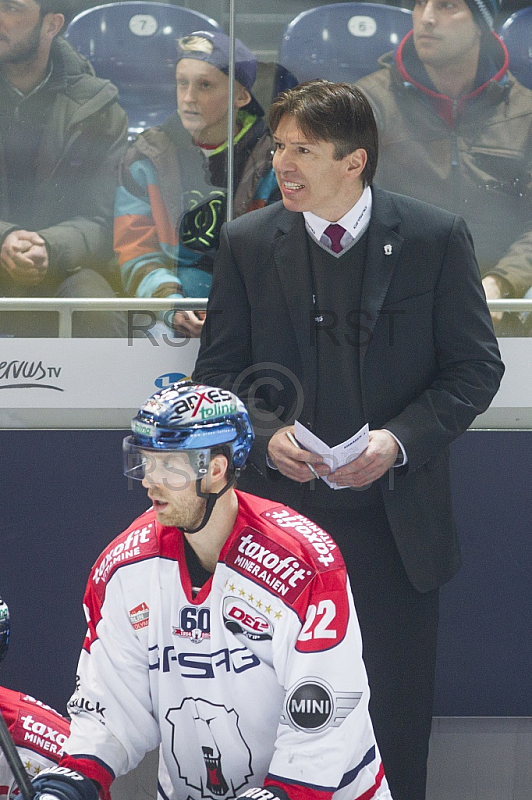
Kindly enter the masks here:
<path id="1" fill-rule="evenodd" d="M 181 381 L 124 440 L 152 507 L 96 561 L 59 769 L 37 800 L 97 800 L 160 747 L 172 800 L 391 800 L 340 552 L 235 488 L 253 441 L 231 392 Z"/>

